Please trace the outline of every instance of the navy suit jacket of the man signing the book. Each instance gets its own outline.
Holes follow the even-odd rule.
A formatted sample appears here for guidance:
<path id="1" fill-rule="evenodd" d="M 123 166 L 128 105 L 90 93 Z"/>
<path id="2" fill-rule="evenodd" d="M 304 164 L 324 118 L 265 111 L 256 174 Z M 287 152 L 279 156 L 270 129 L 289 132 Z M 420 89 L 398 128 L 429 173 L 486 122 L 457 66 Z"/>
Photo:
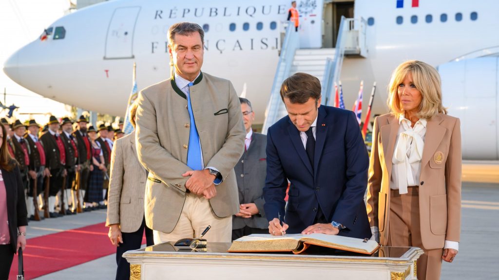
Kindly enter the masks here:
<path id="1" fill-rule="evenodd" d="M 320 106 L 314 166 L 289 117 L 267 132 L 267 176 L 263 188 L 268 221 L 285 213 L 287 233 L 300 233 L 314 222 L 320 206 L 325 218 L 346 229 L 339 235 L 370 238 L 364 194 L 369 157 L 353 112 Z M 287 181 L 289 199 L 284 212 Z"/>

